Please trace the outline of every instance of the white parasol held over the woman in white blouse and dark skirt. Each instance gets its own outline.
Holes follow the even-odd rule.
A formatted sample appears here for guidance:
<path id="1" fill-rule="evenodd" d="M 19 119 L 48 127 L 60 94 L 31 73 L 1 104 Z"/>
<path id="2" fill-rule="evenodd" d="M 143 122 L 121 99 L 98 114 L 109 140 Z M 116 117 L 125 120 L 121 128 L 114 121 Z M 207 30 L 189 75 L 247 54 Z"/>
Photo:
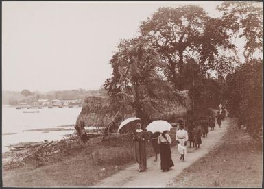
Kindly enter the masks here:
<path id="1" fill-rule="evenodd" d="M 152 133 L 155 132 L 162 133 L 163 131 L 170 131 L 171 128 L 172 126 L 169 122 L 163 120 L 157 120 L 157 121 L 152 121 L 152 123 L 149 123 L 146 129 L 147 131 L 151 131 Z"/>

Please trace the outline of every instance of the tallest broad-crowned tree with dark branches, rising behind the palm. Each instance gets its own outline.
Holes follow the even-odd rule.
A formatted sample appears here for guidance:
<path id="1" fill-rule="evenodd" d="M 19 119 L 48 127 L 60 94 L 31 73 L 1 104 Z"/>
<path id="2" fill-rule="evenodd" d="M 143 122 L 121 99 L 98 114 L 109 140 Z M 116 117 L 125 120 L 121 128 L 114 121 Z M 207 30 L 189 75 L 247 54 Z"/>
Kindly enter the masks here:
<path id="1" fill-rule="evenodd" d="M 141 25 L 141 33 L 161 54 L 165 75 L 176 88 L 184 89 L 182 75 L 187 59 L 194 59 L 204 71 L 220 69 L 219 51 L 229 47 L 228 35 L 219 18 L 210 18 L 203 8 L 186 5 L 159 8 Z M 225 62 L 221 62 L 223 64 Z"/>

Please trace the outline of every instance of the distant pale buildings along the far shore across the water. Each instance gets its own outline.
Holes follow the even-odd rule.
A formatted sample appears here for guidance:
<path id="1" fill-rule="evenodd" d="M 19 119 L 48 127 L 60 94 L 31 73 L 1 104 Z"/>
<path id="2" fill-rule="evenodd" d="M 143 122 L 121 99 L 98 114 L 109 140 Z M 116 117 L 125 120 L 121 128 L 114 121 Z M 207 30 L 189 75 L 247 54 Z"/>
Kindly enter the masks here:
<path id="1" fill-rule="evenodd" d="M 16 105 L 16 109 L 21 109 L 21 108 L 53 108 L 53 107 L 58 107 L 58 108 L 63 108 L 63 107 L 69 107 L 72 108 L 73 106 L 82 106 L 82 99 L 74 99 L 74 100 L 51 100 L 49 99 L 38 99 L 36 102 L 32 103 L 27 103 L 27 102 L 21 102 L 19 105 Z"/>

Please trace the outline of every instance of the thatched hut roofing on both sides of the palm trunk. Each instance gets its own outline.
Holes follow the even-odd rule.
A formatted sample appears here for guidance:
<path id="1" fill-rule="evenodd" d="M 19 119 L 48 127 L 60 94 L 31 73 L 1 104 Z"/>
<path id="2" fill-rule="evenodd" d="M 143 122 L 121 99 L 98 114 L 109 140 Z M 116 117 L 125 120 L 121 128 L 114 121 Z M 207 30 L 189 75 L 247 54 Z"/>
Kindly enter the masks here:
<path id="1" fill-rule="evenodd" d="M 175 122 L 179 117 L 185 116 L 187 110 L 191 109 L 188 91 L 180 91 L 178 95 L 180 95 L 181 101 L 178 99 L 143 101 L 142 106 L 145 117 L 147 117 L 146 122 L 158 119 Z M 76 124 L 83 121 L 86 127 L 106 127 L 117 114 L 121 114 L 121 121 L 135 116 L 134 110 L 130 105 L 114 102 L 108 96 L 91 96 L 84 100 L 82 111 L 77 118 Z"/>

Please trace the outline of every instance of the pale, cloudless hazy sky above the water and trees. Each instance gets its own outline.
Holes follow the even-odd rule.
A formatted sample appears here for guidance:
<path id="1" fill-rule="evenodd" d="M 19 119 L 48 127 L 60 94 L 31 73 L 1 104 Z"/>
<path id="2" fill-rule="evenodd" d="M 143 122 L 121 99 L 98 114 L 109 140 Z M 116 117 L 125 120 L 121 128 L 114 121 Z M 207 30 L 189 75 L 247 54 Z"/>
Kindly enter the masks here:
<path id="1" fill-rule="evenodd" d="M 163 6 L 200 5 L 211 16 L 220 2 L 3 2 L 3 90 L 97 89 L 111 76 L 121 38 Z"/>

